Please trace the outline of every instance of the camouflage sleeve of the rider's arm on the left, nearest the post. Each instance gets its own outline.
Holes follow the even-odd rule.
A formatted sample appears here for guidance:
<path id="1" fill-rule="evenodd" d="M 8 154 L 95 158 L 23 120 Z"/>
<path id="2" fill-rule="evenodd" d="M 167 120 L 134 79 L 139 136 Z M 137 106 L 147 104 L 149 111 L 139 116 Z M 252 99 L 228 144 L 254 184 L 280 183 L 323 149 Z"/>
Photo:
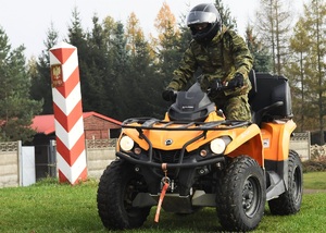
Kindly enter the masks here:
<path id="1" fill-rule="evenodd" d="M 198 64 L 196 62 L 195 56 L 189 47 L 181 59 L 178 69 L 173 72 L 173 78 L 166 88 L 172 88 L 174 90 L 183 89 L 189 79 L 192 78 Z"/>

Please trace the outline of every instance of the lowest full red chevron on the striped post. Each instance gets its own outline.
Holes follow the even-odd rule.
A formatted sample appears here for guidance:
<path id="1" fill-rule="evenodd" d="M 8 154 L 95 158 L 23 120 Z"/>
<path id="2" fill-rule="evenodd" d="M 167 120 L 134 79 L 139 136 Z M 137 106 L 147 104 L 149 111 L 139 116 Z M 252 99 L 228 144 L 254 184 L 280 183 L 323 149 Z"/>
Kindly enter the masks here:
<path id="1" fill-rule="evenodd" d="M 78 159 L 80 154 L 85 150 L 85 135 L 83 134 L 73 148 L 70 150 L 64 143 L 57 136 L 57 151 L 62 158 L 72 167 Z"/>

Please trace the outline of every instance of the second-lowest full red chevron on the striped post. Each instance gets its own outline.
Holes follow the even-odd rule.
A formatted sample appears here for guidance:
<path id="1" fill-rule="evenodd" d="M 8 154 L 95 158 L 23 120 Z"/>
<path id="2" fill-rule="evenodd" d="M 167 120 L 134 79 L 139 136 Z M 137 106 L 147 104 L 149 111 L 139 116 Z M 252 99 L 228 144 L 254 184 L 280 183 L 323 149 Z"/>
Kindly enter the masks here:
<path id="1" fill-rule="evenodd" d="M 54 119 L 62 125 L 62 127 L 64 127 L 66 132 L 70 132 L 75 126 L 76 122 L 83 116 L 82 99 L 77 102 L 68 115 L 65 115 L 65 113 L 57 106 L 55 102 L 53 102 L 53 112 Z"/>

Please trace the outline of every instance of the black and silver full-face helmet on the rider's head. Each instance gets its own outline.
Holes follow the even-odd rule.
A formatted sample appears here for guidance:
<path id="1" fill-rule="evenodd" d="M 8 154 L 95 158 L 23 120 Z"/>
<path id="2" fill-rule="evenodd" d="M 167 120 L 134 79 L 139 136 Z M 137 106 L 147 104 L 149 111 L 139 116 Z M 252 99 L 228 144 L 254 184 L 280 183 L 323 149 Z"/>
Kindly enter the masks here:
<path id="1" fill-rule="evenodd" d="M 208 24 L 203 29 L 197 29 L 197 24 Z M 187 26 L 191 29 L 192 38 L 198 42 L 208 42 L 213 39 L 221 28 L 221 15 L 212 3 L 198 4 L 187 16 Z"/>

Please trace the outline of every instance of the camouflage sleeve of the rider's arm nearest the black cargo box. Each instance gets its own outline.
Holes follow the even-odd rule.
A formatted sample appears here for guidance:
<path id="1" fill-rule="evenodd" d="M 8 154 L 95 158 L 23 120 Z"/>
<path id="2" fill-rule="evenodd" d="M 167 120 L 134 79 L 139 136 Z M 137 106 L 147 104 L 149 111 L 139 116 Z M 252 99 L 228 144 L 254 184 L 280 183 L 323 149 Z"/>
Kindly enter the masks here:
<path id="1" fill-rule="evenodd" d="M 237 35 L 235 32 L 229 33 L 231 53 L 235 61 L 236 73 L 242 74 L 248 77 L 250 70 L 252 69 L 253 59 L 248 49 L 243 38 Z"/>

